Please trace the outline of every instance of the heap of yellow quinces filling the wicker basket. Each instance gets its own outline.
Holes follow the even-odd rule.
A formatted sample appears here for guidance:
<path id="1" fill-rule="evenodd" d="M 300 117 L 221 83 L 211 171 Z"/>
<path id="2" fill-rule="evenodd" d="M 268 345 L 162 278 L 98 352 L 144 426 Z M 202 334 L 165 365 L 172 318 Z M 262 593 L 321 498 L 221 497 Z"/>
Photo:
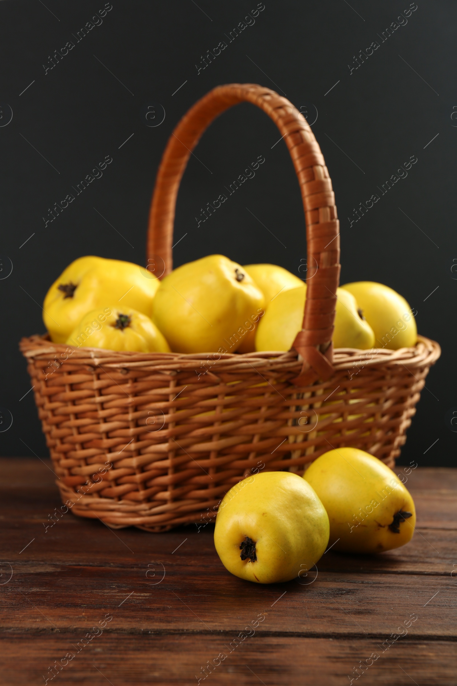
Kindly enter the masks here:
<path id="1" fill-rule="evenodd" d="M 336 292 L 335 348 L 398 348 L 417 342 L 410 306 L 372 281 Z M 162 281 L 131 262 L 76 259 L 43 305 L 51 340 L 140 353 L 288 351 L 301 329 L 306 284 L 277 265 L 242 267 L 210 255 Z"/>

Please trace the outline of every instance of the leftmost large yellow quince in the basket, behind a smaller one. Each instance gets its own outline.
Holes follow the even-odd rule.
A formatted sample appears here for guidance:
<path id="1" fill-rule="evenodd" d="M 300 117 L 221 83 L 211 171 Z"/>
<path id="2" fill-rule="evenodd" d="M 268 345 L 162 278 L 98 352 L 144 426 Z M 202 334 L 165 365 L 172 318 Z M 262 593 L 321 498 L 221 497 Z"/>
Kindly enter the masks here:
<path id="1" fill-rule="evenodd" d="M 87 312 L 106 303 L 151 316 L 159 283 L 132 262 L 94 256 L 75 259 L 51 285 L 43 303 L 43 321 L 51 340 L 66 342 Z"/>

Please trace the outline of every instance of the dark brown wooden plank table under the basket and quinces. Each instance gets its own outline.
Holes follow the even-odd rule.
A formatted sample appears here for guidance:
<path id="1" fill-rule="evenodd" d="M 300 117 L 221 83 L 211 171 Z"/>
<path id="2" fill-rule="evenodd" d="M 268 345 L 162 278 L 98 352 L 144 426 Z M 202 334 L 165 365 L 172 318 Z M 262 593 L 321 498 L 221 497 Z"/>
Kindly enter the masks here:
<path id="1" fill-rule="evenodd" d="M 2 686 L 457 683 L 457 470 L 410 473 L 405 547 L 329 550 L 271 586 L 224 569 L 211 525 L 52 520 L 54 478 L 47 460 L 0 459 Z"/>

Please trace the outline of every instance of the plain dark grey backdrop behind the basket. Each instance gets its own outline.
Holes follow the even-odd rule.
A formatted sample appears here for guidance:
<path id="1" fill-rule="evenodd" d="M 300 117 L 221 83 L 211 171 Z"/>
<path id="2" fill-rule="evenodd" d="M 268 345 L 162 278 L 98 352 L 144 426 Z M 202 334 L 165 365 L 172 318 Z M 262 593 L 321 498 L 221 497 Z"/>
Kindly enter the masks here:
<path id="1" fill-rule="evenodd" d="M 49 285 L 82 255 L 144 264 L 151 191 L 175 124 L 210 88 L 254 82 L 285 94 L 310 123 L 317 115 L 312 129 L 341 220 L 341 283 L 369 279 L 393 287 L 417 309 L 419 332 L 443 347 L 401 463 L 454 466 L 456 3 L 418 0 L 408 23 L 382 43 L 382 32 L 408 1 L 265 0 L 255 24 L 199 74 L 201 56 L 221 40 L 228 43 L 225 34 L 256 8 L 255 0 L 112 0 L 103 23 L 77 43 L 73 34 L 104 4 L 0 3 L 0 123 L 9 119 L 8 105 L 13 113 L 0 126 L 0 250 L 13 264 L 0 281 L 0 405 L 14 418 L 0 433 L 1 453 L 48 454 L 33 394 L 23 397 L 30 383 L 17 344 L 44 331 L 40 305 Z M 49 57 L 69 40 L 75 47 L 45 74 Z M 374 40 L 378 50 L 350 73 L 348 64 L 356 66 L 354 57 Z M 160 126 L 146 126 L 141 109 L 147 105 L 157 113 L 164 108 Z M 272 147 L 278 138 L 269 118 L 247 104 L 212 124 L 182 182 L 175 241 L 185 237 L 175 248 L 175 265 L 221 252 L 242 264 L 269 261 L 299 275 L 304 215 L 286 145 Z M 48 208 L 106 155 L 113 161 L 103 177 L 45 228 Z M 265 162 L 255 178 L 197 228 L 201 206 L 258 155 Z M 360 201 L 412 155 L 417 163 L 407 178 L 350 226 Z M 3 259 L 3 274 L 8 264 Z"/>

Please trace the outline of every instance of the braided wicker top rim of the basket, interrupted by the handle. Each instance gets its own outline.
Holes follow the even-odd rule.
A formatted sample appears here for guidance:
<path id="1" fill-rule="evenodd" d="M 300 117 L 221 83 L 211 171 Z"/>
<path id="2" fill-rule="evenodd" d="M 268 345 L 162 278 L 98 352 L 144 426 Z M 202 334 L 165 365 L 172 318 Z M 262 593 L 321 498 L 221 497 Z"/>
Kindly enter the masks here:
<path id="1" fill-rule="evenodd" d="M 201 369 L 201 362 L 210 362 L 212 372 L 239 372 L 249 367 L 281 366 L 301 367 L 301 361 L 294 350 L 262 351 L 254 353 L 136 353 L 133 351 L 112 351 L 104 348 L 77 348 L 64 343 L 53 343 L 49 334 L 35 334 L 24 337 L 19 348 L 27 358 L 49 359 L 56 355 L 67 355 L 71 350 L 71 362 L 93 367 L 138 368 L 147 366 L 157 371 L 176 373 L 181 370 Z M 333 353 L 335 371 L 363 366 L 419 366 L 434 364 L 441 355 L 441 346 L 434 340 L 418 335 L 417 344 L 409 348 L 335 348 Z"/>

